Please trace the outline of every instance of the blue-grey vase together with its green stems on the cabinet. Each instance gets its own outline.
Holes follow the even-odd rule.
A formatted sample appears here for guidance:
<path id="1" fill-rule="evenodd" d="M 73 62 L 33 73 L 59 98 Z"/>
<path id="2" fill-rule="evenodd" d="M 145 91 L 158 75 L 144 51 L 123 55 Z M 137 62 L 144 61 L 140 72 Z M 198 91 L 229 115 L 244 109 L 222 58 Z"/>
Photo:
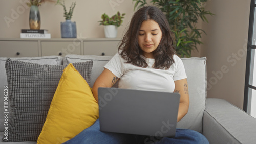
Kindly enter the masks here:
<path id="1" fill-rule="evenodd" d="M 60 22 L 61 27 L 61 38 L 76 38 L 76 22 L 72 22 L 71 18 L 73 15 L 74 8 L 76 6 L 76 2 L 72 2 L 69 12 L 66 10 L 65 1 L 58 0 L 57 4 L 63 6 L 64 8 L 64 17 L 66 19 L 65 22 Z"/>

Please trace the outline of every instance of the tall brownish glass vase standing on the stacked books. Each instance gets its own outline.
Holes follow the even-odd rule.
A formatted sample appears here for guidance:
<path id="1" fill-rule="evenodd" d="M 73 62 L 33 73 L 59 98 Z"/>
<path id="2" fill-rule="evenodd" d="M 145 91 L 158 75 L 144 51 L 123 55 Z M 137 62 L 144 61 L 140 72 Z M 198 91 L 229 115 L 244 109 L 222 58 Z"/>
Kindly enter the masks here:
<path id="1" fill-rule="evenodd" d="M 31 30 L 39 30 L 41 26 L 40 13 L 37 6 L 32 5 L 29 12 L 29 27 Z"/>

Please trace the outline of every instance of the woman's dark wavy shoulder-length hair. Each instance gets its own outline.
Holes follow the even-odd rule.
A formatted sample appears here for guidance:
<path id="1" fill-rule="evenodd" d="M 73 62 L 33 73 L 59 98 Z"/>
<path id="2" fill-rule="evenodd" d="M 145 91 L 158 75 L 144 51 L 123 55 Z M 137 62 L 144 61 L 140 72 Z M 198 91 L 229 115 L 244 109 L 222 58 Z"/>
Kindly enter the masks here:
<path id="1" fill-rule="evenodd" d="M 174 36 L 170 30 L 169 23 L 165 15 L 156 7 L 148 6 L 139 9 L 133 15 L 129 29 L 123 36 L 122 42 L 118 47 L 118 52 L 127 63 L 139 67 L 147 67 L 146 61 L 141 57 L 143 51 L 138 44 L 138 35 L 141 23 L 145 20 L 154 20 L 158 23 L 162 31 L 162 39 L 153 52 L 155 64 L 153 68 L 168 69 L 174 63 L 173 55 L 175 48 L 173 47 Z"/>

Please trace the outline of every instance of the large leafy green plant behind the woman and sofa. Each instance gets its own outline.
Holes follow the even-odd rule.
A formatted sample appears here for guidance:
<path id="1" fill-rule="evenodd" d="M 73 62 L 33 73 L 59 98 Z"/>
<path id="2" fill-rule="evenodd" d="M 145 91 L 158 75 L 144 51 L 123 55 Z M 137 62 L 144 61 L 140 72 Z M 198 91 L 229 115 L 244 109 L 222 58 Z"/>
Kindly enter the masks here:
<path id="1" fill-rule="evenodd" d="M 134 10 L 148 5 L 146 0 L 135 1 Z M 204 9 L 204 2 L 207 0 L 152 0 L 151 3 L 158 7 L 168 19 L 170 29 L 174 32 L 176 39 L 176 54 L 180 57 L 191 57 L 191 51 L 197 50 L 200 41 L 202 29 L 196 27 L 198 20 L 208 22 L 205 15 L 214 15 Z"/>

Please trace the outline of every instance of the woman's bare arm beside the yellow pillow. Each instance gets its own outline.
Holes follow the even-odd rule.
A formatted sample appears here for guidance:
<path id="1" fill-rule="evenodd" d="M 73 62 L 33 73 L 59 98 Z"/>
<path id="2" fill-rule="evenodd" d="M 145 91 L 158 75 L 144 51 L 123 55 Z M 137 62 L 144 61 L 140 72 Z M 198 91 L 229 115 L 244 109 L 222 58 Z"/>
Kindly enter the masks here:
<path id="1" fill-rule="evenodd" d="M 104 68 L 102 73 L 96 79 L 93 84 L 92 92 L 93 96 L 98 102 L 98 88 L 99 87 L 112 87 L 118 80 L 117 78 L 109 69 Z"/>

